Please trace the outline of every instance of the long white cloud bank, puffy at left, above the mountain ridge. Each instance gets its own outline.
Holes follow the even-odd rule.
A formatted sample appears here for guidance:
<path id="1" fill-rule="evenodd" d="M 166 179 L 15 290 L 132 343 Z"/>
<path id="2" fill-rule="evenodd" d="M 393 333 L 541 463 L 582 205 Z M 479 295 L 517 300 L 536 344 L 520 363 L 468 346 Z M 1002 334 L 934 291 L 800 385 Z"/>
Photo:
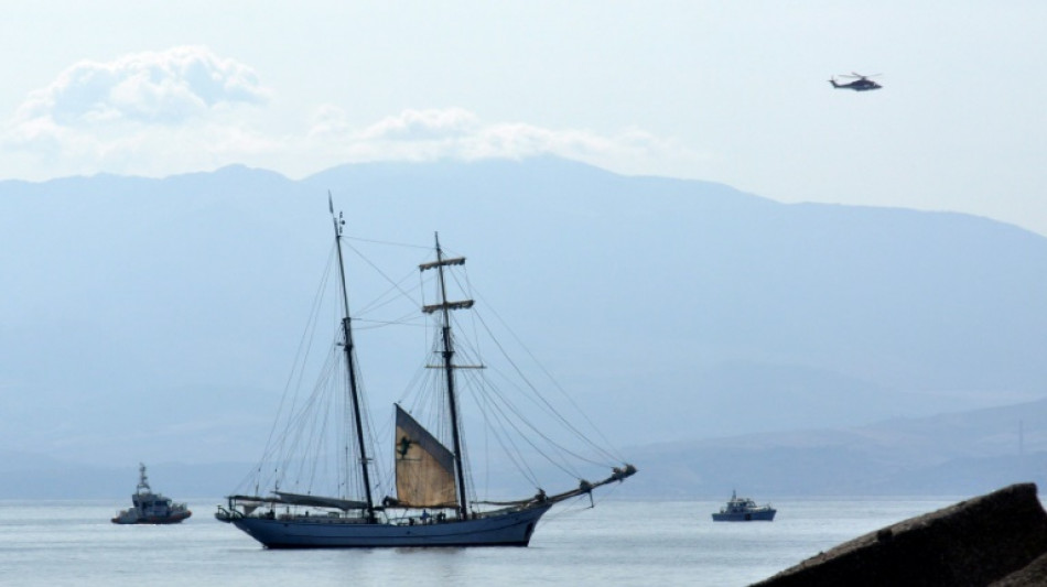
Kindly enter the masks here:
<path id="1" fill-rule="evenodd" d="M 9 120 L 0 175 L 159 176 L 230 163 L 295 175 L 357 161 L 539 154 L 632 172 L 651 161 L 697 157 L 640 130 L 607 135 L 487 122 L 463 108 L 408 109 L 360 124 L 325 105 L 309 128 L 273 135 L 265 130 L 270 94 L 249 66 L 201 46 L 80 62 L 33 91 Z"/>

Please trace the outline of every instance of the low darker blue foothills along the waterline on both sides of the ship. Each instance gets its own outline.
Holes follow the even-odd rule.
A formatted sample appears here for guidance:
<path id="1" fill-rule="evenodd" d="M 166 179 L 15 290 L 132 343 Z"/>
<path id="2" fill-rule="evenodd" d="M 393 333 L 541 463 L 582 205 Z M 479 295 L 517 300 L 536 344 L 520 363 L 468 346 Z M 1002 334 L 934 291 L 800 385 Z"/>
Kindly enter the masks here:
<path id="1" fill-rule="evenodd" d="M 1043 485 L 1047 483 L 1045 424 L 1047 401 L 1038 401 L 853 428 L 633 446 L 625 453 L 643 475 L 614 496 L 720 499 L 732 488 L 762 499 L 973 496 L 1018 481 Z M 150 470 L 158 489 L 169 494 L 217 498 L 233 491 L 252 466 L 153 463 Z M 116 498 L 133 489 L 136 475 L 133 464 L 91 467 L 4 453 L 0 499 Z"/>

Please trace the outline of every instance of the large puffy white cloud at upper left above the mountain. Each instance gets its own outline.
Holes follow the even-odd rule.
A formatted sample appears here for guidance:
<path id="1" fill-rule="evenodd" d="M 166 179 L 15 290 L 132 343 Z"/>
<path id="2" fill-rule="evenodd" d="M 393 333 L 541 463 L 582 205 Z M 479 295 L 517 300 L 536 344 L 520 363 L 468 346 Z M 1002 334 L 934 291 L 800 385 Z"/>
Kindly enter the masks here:
<path id="1" fill-rule="evenodd" d="M 202 46 L 83 61 L 28 96 L 0 148 L 11 166 L 62 174 L 213 167 L 279 143 L 251 123 L 269 96 L 253 69 Z"/>

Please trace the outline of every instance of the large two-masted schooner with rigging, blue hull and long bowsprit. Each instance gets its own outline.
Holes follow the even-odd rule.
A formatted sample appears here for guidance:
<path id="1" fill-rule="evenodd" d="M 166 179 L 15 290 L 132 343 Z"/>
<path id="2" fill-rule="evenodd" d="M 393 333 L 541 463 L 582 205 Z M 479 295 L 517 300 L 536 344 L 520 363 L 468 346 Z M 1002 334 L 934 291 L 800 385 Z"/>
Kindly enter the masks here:
<path id="1" fill-rule="evenodd" d="M 305 392 L 309 396 L 303 401 L 288 402 L 298 406 L 288 411 L 285 422 L 289 424 L 273 427 L 263 464 L 256 469 L 255 478 L 247 481 L 252 492 L 229 496 L 227 503 L 218 507 L 215 514 L 218 520 L 231 523 L 270 548 L 526 546 L 541 517 L 555 503 L 586 494 L 591 497 L 594 489 L 622 481 L 636 472 L 633 465 L 622 464 L 620 459 L 603 449 L 601 455 L 612 471 L 600 481 L 591 482 L 575 476 L 576 486 L 559 493 L 547 494 L 535 482 L 531 487 L 538 487 L 537 493 L 522 499 L 493 501 L 475 497 L 475 483 L 471 481 L 465 459 L 460 387 L 463 384 L 462 380 L 465 380 L 466 384 L 471 383 L 485 367 L 462 365 L 455 360 L 457 349 L 463 343 L 456 335 L 452 335 L 452 313 L 471 309 L 474 302 L 449 301 L 449 287 L 468 282 L 453 275 L 454 271 L 462 271 L 465 258 L 446 257 L 438 237 L 435 259 L 419 265 L 423 282 L 420 283 L 420 290 L 424 291 L 427 285 L 435 290 L 435 303 L 419 304 L 423 315 L 435 322 L 434 328 L 428 330 L 433 334 L 433 350 L 423 361 L 420 372 L 429 369 L 438 373 L 428 378 L 436 388 L 436 393 L 430 392 L 425 399 L 419 399 L 414 404 L 419 412 L 429 406 L 438 415 L 425 421 L 427 425 L 423 425 L 421 416 L 404 409 L 400 403 L 395 404 L 395 424 L 390 428 L 393 436 L 391 456 L 396 496 L 378 499 L 377 496 L 381 494 L 378 491 L 384 489 L 381 480 L 376 480 L 375 477 L 381 474 L 381 469 L 375 467 L 373 461 L 373 425 L 365 410 L 354 347 L 353 325 L 357 318 L 352 318 L 349 314 L 343 260 L 343 248 L 348 247 L 343 243 L 345 222 L 341 214 L 338 217 L 334 216 L 334 205 L 330 196 L 328 204 L 334 220 L 336 250 L 336 253 L 332 252 L 331 258 L 337 259 L 338 268 L 338 294 L 330 297 L 336 300 L 341 314 L 333 328 L 335 344 L 330 346 L 328 359 L 317 369 L 321 372 L 321 381 Z M 353 250 L 359 253 L 356 249 Z M 427 275 L 430 279 L 424 283 Z M 389 291 L 406 294 L 399 283 L 395 283 Z M 414 297 L 410 300 L 417 303 Z M 381 302 L 385 303 L 388 301 Z M 323 314 L 316 312 L 315 315 Z M 313 324 L 314 320 L 310 323 Z M 501 346 L 497 345 L 496 348 L 500 350 Z M 477 361 L 476 347 L 466 346 L 464 352 L 469 361 Z M 457 374 L 466 369 L 467 376 Z M 300 380 L 301 377 L 295 374 L 291 379 Z M 427 378 L 419 374 L 415 379 Z M 514 394 L 528 389 L 535 390 L 535 385 L 528 382 L 512 388 L 511 393 L 501 393 L 486 381 L 478 388 L 479 391 L 476 391 L 476 387 L 471 388 L 467 398 L 474 400 L 474 405 L 493 407 L 494 415 L 488 416 L 485 412 L 482 420 L 488 427 L 493 424 L 501 426 L 500 431 L 495 430 L 489 434 L 497 436 L 498 444 L 517 449 L 515 455 L 500 463 L 517 463 L 522 456 L 519 447 L 527 446 L 520 441 L 510 439 L 509 434 L 514 431 L 517 434 L 525 431 L 533 435 L 531 439 L 525 441 L 535 448 L 531 453 L 546 456 L 551 445 L 559 446 L 558 443 L 551 442 L 552 436 L 538 433 L 538 428 L 529 423 L 522 426 L 506 425 L 507 417 L 520 416 L 526 412 L 511 403 Z M 541 401 L 544 402 L 544 399 Z M 546 407 L 548 403 L 536 405 L 541 406 L 546 414 L 553 415 L 553 420 L 560 420 L 560 414 Z M 304 432 L 299 424 L 304 425 Z M 578 428 L 568 427 L 573 431 L 575 437 L 587 442 Z M 342 439 L 333 444 L 322 444 L 319 438 L 330 430 L 341 431 Z M 436 431 L 436 434 L 430 431 Z M 320 456 L 326 456 L 327 463 L 333 464 L 316 466 L 307 464 L 310 460 L 304 456 L 291 456 L 290 452 L 283 454 L 285 448 L 305 446 L 314 448 Z M 594 450 L 597 450 L 596 445 L 590 443 L 586 453 L 592 454 Z M 564 450 L 561 457 L 563 454 L 578 455 Z M 591 459 L 586 460 L 592 463 Z M 560 457 L 554 463 L 562 470 Z M 530 474 L 535 469 L 526 470 Z M 331 474 L 333 482 L 326 488 L 320 488 L 320 482 L 314 481 L 322 477 L 324 471 L 336 472 Z M 533 478 L 532 475 L 526 477 L 529 480 Z M 269 487 L 271 490 L 268 494 L 260 494 L 261 487 Z"/>

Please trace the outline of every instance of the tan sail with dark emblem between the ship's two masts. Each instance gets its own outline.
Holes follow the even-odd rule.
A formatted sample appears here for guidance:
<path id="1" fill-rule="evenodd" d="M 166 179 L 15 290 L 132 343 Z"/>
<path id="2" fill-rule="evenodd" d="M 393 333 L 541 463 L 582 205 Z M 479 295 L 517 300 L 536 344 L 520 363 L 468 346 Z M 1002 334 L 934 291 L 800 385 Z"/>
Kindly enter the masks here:
<path id="1" fill-rule="evenodd" d="M 397 499 L 415 508 L 457 506 L 454 456 L 397 405 Z"/>

